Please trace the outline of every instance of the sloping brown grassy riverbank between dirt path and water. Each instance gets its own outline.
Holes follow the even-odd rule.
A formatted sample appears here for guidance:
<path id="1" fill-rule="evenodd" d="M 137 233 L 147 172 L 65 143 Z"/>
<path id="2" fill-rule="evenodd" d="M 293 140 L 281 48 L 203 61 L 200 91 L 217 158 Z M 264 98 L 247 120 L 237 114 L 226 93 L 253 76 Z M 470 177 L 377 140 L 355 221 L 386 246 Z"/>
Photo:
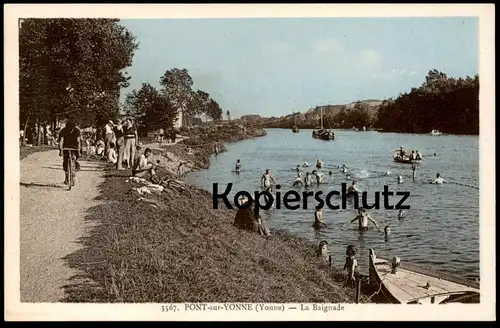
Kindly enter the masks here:
<path id="1" fill-rule="evenodd" d="M 209 141 L 265 134 L 234 129 L 221 127 L 225 133 Z M 206 143 L 204 137 L 156 149 L 154 159 L 166 162 L 158 175 L 172 176 L 179 161 L 201 169 L 197 163 L 214 149 L 194 147 Z M 211 194 L 193 186 L 186 185 L 191 196 L 165 189 L 140 197 L 131 191 L 129 175 L 106 174 L 99 197 L 105 202 L 87 216 L 97 225 L 82 239 L 83 249 L 65 259 L 82 272 L 65 287 L 65 302 L 355 302 L 355 290 L 344 286 L 336 268 L 340 264 L 324 266 L 317 245 L 274 229 L 270 237 L 239 229 L 236 210 L 214 210 Z M 360 302 L 368 300 L 362 296 Z"/>

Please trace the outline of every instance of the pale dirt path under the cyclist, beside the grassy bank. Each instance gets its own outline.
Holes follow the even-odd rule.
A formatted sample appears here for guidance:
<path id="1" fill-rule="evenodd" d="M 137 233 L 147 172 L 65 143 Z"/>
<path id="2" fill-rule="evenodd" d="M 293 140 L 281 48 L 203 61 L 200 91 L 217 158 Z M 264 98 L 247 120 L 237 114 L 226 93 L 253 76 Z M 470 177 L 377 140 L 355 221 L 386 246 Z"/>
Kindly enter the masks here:
<path id="1" fill-rule="evenodd" d="M 90 223 L 89 208 L 104 182 L 105 164 L 80 161 L 71 191 L 63 184 L 57 150 L 32 154 L 21 161 L 21 302 L 58 302 L 62 287 L 77 274 L 63 258 L 81 248 L 78 239 Z"/>

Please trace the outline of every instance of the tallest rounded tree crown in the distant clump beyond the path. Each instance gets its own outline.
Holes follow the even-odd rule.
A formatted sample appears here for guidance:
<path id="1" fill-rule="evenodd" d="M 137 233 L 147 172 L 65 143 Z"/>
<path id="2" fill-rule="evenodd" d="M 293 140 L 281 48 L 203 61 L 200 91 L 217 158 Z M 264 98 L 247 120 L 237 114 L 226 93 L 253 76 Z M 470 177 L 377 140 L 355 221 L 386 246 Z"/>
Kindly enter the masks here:
<path id="1" fill-rule="evenodd" d="M 166 71 L 160 78 L 160 85 L 163 87 L 162 92 L 170 104 L 179 110 L 184 117 L 184 112 L 193 98 L 191 90 L 193 79 L 187 69 L 173 68 Z"/>

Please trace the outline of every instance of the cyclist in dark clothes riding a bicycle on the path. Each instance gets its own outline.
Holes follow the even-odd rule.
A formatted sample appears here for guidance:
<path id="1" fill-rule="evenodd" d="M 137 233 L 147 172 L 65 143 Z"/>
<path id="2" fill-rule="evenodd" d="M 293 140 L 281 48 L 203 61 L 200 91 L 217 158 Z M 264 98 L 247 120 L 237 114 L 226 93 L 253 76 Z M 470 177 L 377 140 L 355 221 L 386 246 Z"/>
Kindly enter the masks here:
<path id="1" fill-rule="evenodd" d="M 75 125 L 75 123 L 71 119 L 66 120 L 66 126 L 59 132 L 58 144 L 59 144 L 59 156 L 63 156 L 63 169 L 65 173 L 64 184 L 68 184 L 69 181 L 68 162 L 69 162 L 70 152 L 72 155 L 76 157 L 75 167 L 79 166 L 77 165 L 76 161 L 81 156 L 81 147 L 82 147 L 80 129 Z M 74 150 L 63 152 L 63 149 L 65 148 L 72 148 Z M 73 172 L 72 185 L 74 184 L 75 184 L 75 179 Z"/>

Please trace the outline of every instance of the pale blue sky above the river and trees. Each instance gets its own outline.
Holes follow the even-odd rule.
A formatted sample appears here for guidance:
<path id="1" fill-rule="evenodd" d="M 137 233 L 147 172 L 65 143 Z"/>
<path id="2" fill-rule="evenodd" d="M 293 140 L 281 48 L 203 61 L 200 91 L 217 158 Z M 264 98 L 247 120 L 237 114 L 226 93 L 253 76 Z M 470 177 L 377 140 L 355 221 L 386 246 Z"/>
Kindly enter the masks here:
<path id="1" fill-rule="evenodd" d="M 386 99 L 431 69 L 478 74 L 478 18 L 121 20 L 139 42 L 125 94 L 186 68 L 232 117 Z"/>

